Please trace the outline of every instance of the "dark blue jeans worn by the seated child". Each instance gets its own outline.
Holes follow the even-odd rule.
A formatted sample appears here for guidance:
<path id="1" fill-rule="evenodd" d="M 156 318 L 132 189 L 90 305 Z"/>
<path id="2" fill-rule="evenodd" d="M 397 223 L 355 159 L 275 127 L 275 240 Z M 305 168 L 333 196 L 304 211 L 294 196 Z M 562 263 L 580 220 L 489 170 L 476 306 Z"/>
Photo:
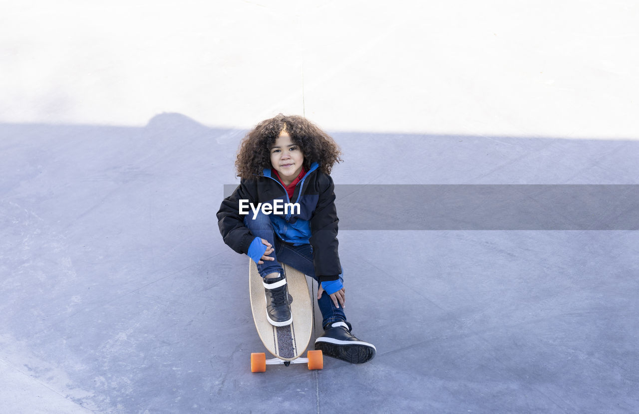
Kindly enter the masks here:
<path id="1" fill-rule="evenodd" d="M 258 264 L 258 272 L 261 277 L 265 277 L 270 273 L 284 273 L 280 263 L 285 263 L 318 280 L 313 266 L 313 249 L 310 244 L 294 246 L 291 243 L 282 241 L 275 235 L 270 217 L 261 211 L 259 211 L 255 219 L 252 218 L 252 215 L 246 215 L 244 225 L 254 236 L 268 240 L 273 249 L 275 249 L 268 255 L 268 257 L 273 257 L 275 260 L 265 260 L 264 264 Z M 342 273 L 344 273 L 343 269 Z M 342 274 L 339 275 L 339 279 L 344 282 Z M 344 310 L 341 307 L 335 307 L 333 300 L 326 292 L 323 292 L 319 298 L 318 306 L 323 319 L 322 326 L 326 327 L 334 322 L 346 321 Z"/>

